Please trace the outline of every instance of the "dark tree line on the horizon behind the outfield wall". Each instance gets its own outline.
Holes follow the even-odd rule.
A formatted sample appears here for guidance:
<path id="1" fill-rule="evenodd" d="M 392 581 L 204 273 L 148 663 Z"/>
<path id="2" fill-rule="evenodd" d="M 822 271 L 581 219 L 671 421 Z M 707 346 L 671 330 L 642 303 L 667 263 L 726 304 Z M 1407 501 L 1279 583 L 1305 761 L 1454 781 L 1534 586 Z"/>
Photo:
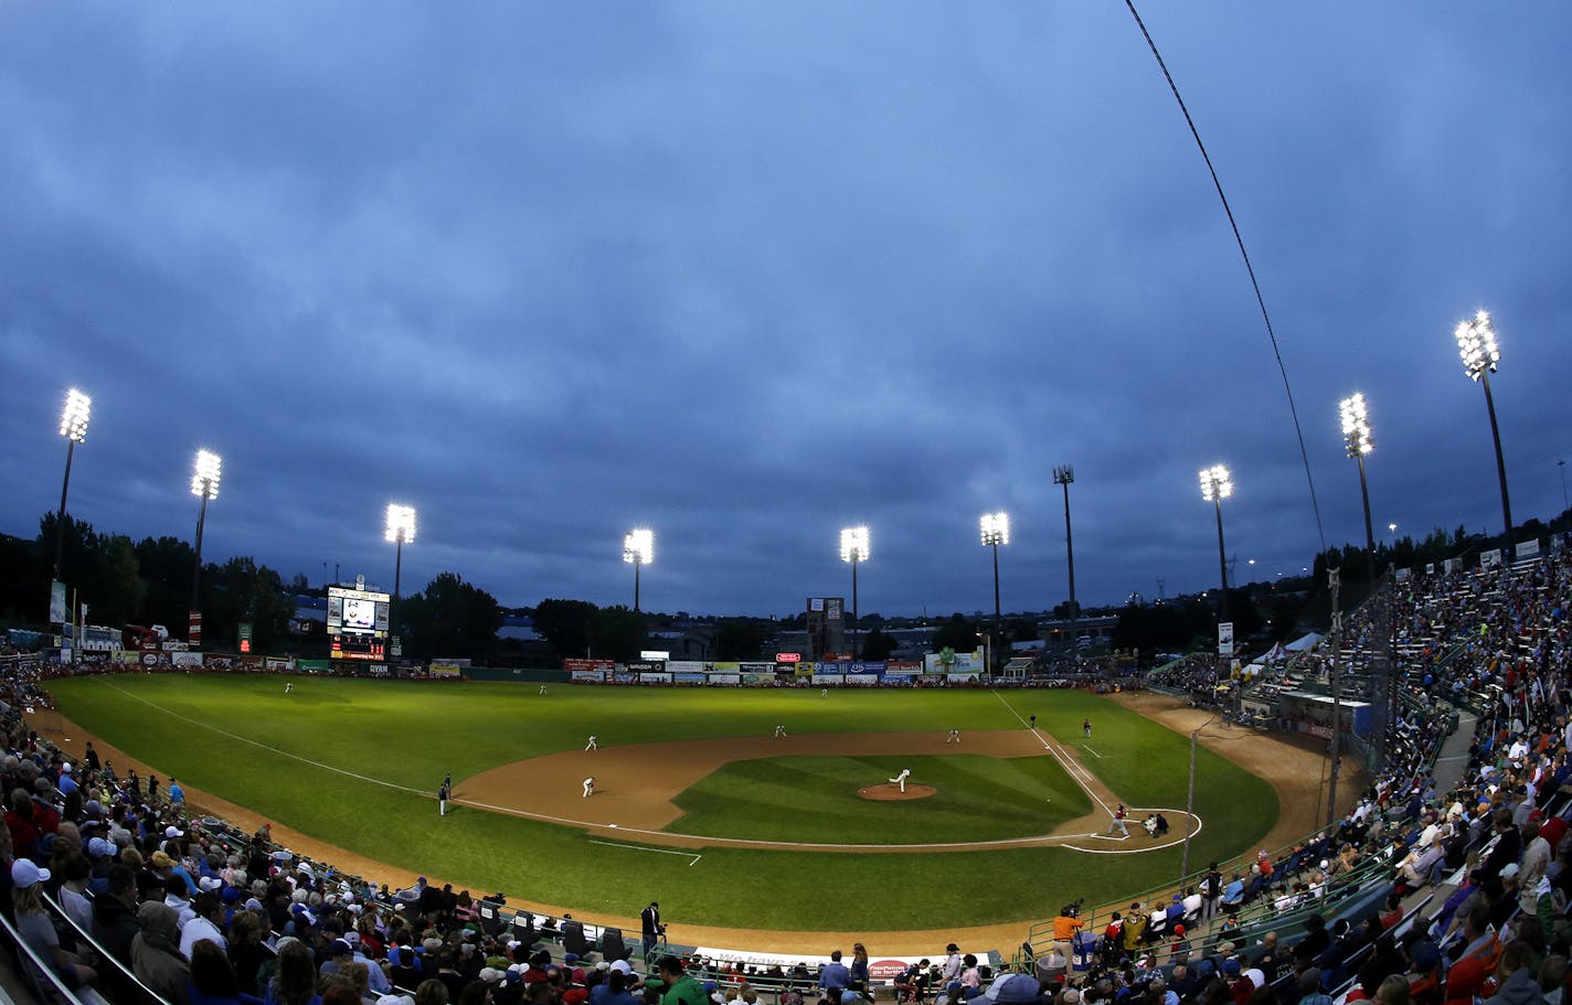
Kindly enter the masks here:
<path id="1" fill-rule="evenodd" d="M 44 630 L 50 564 L 55 550 L 55 513 L 39 520 L 38 537 L 0 535 L 0 628 L 19 627 Z M 1547 526 L 1541 520 L 1520 524 L 1515 539 L 1542 537 L 1547 532 L 1572 529 L 1572 510 L 1566 510 Z M 1374 570 L 1413 568 L 1426 562 L 1442 562 L 1500 546 L 1500 539 L 1470 537 L 1459 526 L 1453 532 L 1437 528 L 1424 539 L 1402 537 L 1376 546 Z M 145 537 L 134 542 L 124 534 L 105 534 L 93 524 L 66 517 L 61 553 L 63 578 L 75 590 L 79 603 L 90 608 L 88 622 L 119 627 L 167 625 L 176 638 L 184 634 L 190 601 L 192 568 L 196 554 L 190 543 L 174 537 Z M 1261 644 L 1283 642 L 1330 622 L 1327 603 L 1327 568 L 1342 570 L 1342 606 L 1352 609 L 1369 590 L 1364 548 L 1344 545 L 1328 548 L 1314 559 L 1309 576 L 1284 576 L 1269 583 L 1248 583 L 1228 594 L 1229 617 L 1239 639 Z M 291 652 L 311 658 L 327 653 L 322 622 L 296 620 L 296 597 L 325 597 L 325 587 L 311 587 L 305 573 L 289 581 L 250 556 L 225 562 L 206 562 L 201 576 L 203 634 L 209 647 L 233 645 L 237 627 L 253 627 L 253 644 L 261 653 Z M 770 639 L 783 630 L 803 628 L 803 614 L 783 619 L 696 617 L 687 612 L 635 614 L 623 605 L 599 608 L 585 600 L 547 598 L 534 608 L 516 614 L 533 617 L 541 641 L 498 639 L 505 611 L 497 598 L 459 573 L 443 572 L 420 592 L 402 597 L 396 617 L 404 627 L 404 652 L 412 658 L 468 656 L 479 663 L 527 663 L 561 666 L 567 656 L 593 653 L 607 660 L 635 660 L 645 649 L 662 649 L 651 642 L 652 631 L 706 627 L 709 660 L 756 660 L 773 656 L 764 652 Z M 1072 614 L 1118 614 L 1111 645 L 1119 650 L 1138 649 L 1143 655 L 1176 652 L 1215 644 L 1215 598 L 1184 595 L 1149 603 L 1132 594 L 1122 608 L 1102 611 L 1071 609 L 1060 603 L 1053 619 Z M 1025 642 L 1038 638 L 1038 614 L 1006 616 L 1003 630 L 987 619 L 953 614 L 938 620 L 934 649 L 968 652 L 976 647 L 976 633 L 990 630 L 995 644 Z M 865 614 L 868 630 L 861 655 L 869 661 L 890 656 L 896 641 L 885 628 L 915 627 L 918 619 L 885 619 Z"/>

